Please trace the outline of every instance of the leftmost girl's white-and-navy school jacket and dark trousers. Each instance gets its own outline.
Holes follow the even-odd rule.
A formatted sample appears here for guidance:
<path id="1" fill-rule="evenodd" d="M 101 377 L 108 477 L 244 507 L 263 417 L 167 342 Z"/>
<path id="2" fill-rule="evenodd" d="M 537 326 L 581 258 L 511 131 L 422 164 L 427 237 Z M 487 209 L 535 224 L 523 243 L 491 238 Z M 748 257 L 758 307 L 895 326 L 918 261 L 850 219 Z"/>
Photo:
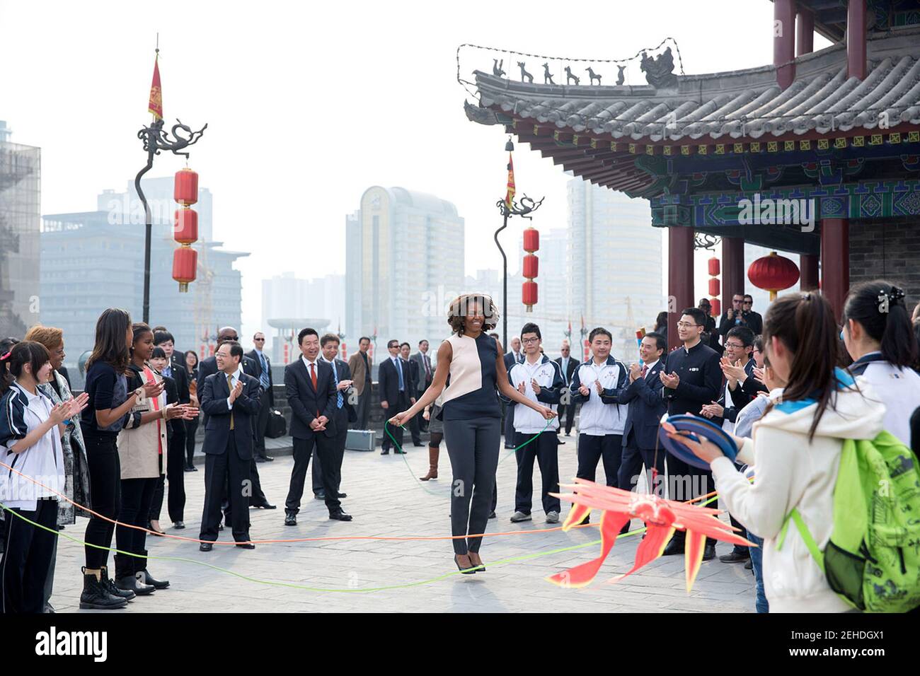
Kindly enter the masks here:
<path id="1" fill-rule="evenodd" d="M 6 513 L 6 548 L 0 561 L 3 613 L 44 610 L 45 582 L 57 536 L 57 493 L 64 491 L 63 448 L 57 426 L 22 453 L 14 451 L 17 441 L 51 417 L 52 407 L 51 399 L 40 390 L 33 395 L 17 383 L 0 398 L 0 461 L 8 465 L 0 467 L 0 502 L 10 510 Z"/>

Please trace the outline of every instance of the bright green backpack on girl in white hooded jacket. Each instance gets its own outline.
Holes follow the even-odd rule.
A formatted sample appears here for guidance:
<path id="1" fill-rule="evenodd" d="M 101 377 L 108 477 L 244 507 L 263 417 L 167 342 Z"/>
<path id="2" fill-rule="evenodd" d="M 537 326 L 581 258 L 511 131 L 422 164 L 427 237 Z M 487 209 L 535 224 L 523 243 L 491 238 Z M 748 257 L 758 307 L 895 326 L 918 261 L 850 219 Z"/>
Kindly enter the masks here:
<path id="1" fill-rule="evenodd" d="M 868 613 L 904 613 L 920 606 L 920 470 L 914 453 L 887 431 L 847 439 L 834 486 L 834 532 L 818 549 L 799 510 L 792 520 L 831 589 Z"/>

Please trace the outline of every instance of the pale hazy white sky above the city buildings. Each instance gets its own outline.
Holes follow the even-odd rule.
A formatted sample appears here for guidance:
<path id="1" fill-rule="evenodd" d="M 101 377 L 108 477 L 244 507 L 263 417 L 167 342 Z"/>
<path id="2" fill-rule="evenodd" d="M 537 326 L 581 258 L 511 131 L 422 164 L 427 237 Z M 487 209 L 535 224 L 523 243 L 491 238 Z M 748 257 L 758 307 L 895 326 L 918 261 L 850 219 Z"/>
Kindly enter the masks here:
<path id="1" fill-rule="evenodd" d="M 0 120 L 12 141 L 41 147 L 42 213 L 95 209 L 98 192 L 123 190 L 144 166 L 136 132 L 150 120 L 159 31 L 167 123 L 209 125 L 190 166 L 213 192 L 215 239 L 251 252 L 237 264 L 248 325 L 259 320 L 263 278 L 344 272 L 344 216 L 372 185 L 453 201 L 466 218 L 467 271 L 500 266 L 491 233 L 500 224 L 505 136 L 466 120 L 459 44 L 623 58 L 671 36 L 687 74 L 772 61 L 768 0 L 575 7 L 0 0 Z M 526 59 L 537 82 L 543 61 Z M 461 74 L 473 79 L 491 64 L 488 52 L 465 52 Z M 505 70 L 519 73 L 507 59 Z M 613 65 L 597 70 L 615 83 Z M 638 63 L 628 77 L 644 84 Z M 546 196 L 535 225 L 565 226 L 561 167 L 523 144 L 514 163 L 519 194 Z M 149 175 L 180 166 L 181 158 L 160 156 Z M 513 223 L 508 247 L 521 227 Z"/>

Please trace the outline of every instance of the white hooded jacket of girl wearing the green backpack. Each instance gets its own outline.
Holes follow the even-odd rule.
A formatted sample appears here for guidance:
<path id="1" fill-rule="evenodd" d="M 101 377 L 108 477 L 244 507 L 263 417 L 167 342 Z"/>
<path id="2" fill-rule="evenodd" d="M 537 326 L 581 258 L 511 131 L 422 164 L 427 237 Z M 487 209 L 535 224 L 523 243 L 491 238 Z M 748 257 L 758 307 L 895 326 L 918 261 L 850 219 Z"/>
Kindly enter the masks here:
<path id="1" fill-rule="evenodd" d="M 728 458 L 712 463 L 720 506 L 764 538 L 764 589 L 771 613 L 843 613 L 848 606 L 824 574 L 794 525 L 780 550 L 776 540 L 796 508 L 822 550 L 834 530 L 834 485 L 844 439 L 873 439 L 882 430 L 885 407 L 865 379 L 837 370 L 840 388 L 825 409 L 811 443 L 808 433 L 817 405 L 789 401 L 753 425 L 753 441 L 739 462 L 753 464 L 750 484 Z M 753 453 L 752 453 L 753 446 Z"/>

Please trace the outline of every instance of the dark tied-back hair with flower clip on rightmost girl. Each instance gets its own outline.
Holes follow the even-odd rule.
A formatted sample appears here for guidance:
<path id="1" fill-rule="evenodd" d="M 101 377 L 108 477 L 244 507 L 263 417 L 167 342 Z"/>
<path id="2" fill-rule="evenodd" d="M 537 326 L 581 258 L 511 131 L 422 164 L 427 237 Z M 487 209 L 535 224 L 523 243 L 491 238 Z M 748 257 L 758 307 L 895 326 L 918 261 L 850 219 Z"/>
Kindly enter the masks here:
<path id="1" fill-rule="evenodd" d="M 844 324 L 852 319 L 878 340 L 881 356 L 898 368 L 917 359 L 917 341 L 904 304 L 904 292 L 890 281 L 865 281 L 850 289 L 844 305 Z"/>

